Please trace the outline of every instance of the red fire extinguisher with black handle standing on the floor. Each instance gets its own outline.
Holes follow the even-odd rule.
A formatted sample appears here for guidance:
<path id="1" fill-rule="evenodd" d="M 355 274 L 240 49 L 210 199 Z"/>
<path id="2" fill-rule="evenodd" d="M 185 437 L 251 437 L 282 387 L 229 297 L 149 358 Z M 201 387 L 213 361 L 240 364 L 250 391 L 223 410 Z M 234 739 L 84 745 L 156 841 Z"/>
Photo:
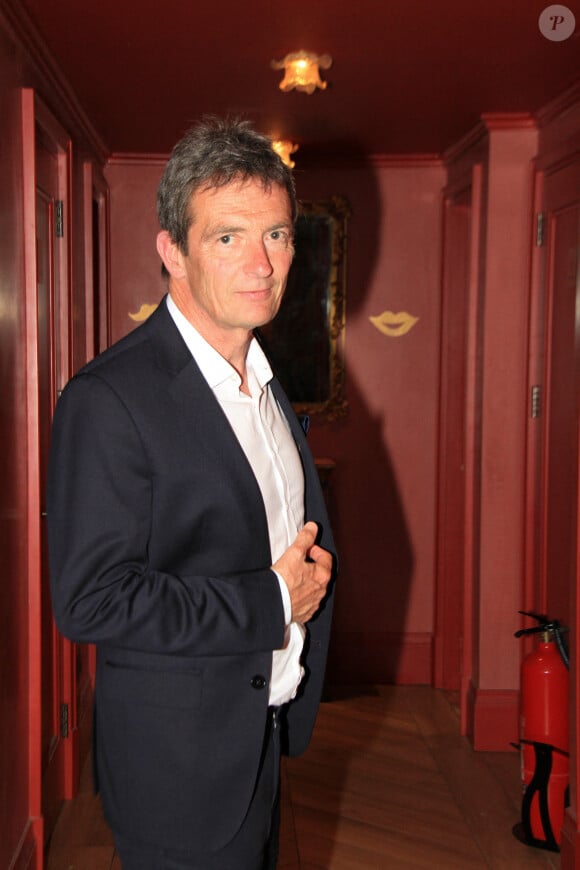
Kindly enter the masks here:
<path id="1" fill-rule="evenodd" d="M 557 620 L 519 612 L 538 625 L 515 637 L 541 634 L 541 640 L 522 662 L 518 748 L 523 798 L 514 834 L 530 846 L 559 852 L 569 803 L 569 660 Z"/>

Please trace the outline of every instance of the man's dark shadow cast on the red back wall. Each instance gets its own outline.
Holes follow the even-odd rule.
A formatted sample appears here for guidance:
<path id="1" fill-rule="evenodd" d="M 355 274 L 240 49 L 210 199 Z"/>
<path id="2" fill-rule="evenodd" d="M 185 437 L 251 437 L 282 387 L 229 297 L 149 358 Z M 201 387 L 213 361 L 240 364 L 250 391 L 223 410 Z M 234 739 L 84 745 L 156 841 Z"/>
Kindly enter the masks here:
<path id="1" fill-rule="evenodd" d="M 381 198 L 376 170 L 356 146 L 356 170 L 336 176 L 350 189 L 311 191 L 308 172 L 297 176 L 299 196 L 324 199 L 344 194 L 352 207 L 347 244 L 346 395 L 348 411 L 335 422 L 312 422 L 309 441 L 317 457 L 336 462 L 328 490 L 339 553 L 339 577 L 327 685 L 401 682 L 402 632 L 406 624 L 413 553 L 382 414 L 373 415 L 349 369 L 364 348 L 349 337 L 349 322 L 364 308 L 379 253 Z M 328 176 L 324 175 L 326 179 Z M 340 178 L 340 182 L 336 181 Z M 351 179 L 353 180 L 351 182 Z M 325 181 L 325 184 L 330 182 Z M 305 189 L 303 190 L 302 187 Z M 384 206 L 383 206 L 384 207 Z M 361 315 L 366 316 L 366 315 Z M 372 327 L 369 324 L 369 329 Z M 377 365 L 381 365 L 377 359 Z M 388 378 L 389 373 L 384 373 Z M 387 409 L 394 417 L 397 408 Z"/>

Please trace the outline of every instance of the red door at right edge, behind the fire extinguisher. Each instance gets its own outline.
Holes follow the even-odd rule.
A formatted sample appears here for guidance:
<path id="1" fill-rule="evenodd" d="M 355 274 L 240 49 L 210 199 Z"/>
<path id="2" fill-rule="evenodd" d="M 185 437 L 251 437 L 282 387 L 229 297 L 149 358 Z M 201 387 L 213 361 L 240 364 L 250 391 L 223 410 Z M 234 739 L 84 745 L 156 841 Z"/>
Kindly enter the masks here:
<path id="1" fill-rule="evenodd" d="M 563 161 L 544 178 L 547 238 L 541 264 L 546 286 L 545 401 L 542 412 L 539 600 L 570 628 L 570 808 L 562 867 L 577 866 L 579 788 L 580 619 L 578 570 L 580 405 L 580 161 Z"/>

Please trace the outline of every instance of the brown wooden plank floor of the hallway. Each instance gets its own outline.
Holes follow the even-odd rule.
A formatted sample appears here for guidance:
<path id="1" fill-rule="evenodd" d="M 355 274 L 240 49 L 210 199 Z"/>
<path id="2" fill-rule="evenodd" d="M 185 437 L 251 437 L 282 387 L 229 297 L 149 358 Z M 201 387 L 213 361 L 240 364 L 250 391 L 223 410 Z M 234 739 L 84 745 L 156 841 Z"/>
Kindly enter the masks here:
<path id="1" fill-rule="evenodd" d="M 279 870 L 557 870 L 512 835 L 517 753 L 474 753 L 453 696 L 426 687 L 343 690 L 282 769 Z M 63 807 L 48 870 L 121 870 L 85 771 Z M 235 870 L 235 868 L 224 868 Z"/>

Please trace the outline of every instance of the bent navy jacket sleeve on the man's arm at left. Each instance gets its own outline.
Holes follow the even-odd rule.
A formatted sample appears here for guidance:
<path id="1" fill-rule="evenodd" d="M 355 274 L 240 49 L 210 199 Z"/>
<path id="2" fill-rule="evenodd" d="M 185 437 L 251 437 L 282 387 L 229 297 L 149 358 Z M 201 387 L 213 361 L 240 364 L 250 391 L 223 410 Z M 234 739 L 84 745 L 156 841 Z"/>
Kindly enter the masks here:
<path id="1" fill-rule="evenodd" d="M 151 564 L 159 470 L 115 390 L 98 376 L 73 379 L 57 404 L 48 474 L 51 593 L 59 629 L 77 642 L 182 655 L 280 647 L 283 606 L 268 564 L 249 571 L 234 566 L 221 576 L 167 573 Z M 171 517 L 164 527 L 171 536 Z M 201 535 L 190 546 L 202 549 Z M 195 553 L 186 563 L 195 564 Z"/>

